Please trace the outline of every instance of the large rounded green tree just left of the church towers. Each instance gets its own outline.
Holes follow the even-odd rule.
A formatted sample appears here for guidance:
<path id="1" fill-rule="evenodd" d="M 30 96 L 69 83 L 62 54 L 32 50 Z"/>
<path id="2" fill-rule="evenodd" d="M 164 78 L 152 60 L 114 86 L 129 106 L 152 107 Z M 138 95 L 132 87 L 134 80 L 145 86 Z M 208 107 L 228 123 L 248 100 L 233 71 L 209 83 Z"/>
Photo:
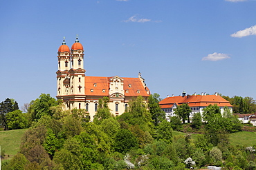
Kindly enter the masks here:
<path id="1" fill-rule="evenodd" d="M 39 98 L 30 102 L 28 113 L 31 114 L 32 120 L 39 120 L 44 115 L 53 116 L 54 112 L 50 108 L 57 104 L 57 100 L 50 94 L 41 94 Z"/>

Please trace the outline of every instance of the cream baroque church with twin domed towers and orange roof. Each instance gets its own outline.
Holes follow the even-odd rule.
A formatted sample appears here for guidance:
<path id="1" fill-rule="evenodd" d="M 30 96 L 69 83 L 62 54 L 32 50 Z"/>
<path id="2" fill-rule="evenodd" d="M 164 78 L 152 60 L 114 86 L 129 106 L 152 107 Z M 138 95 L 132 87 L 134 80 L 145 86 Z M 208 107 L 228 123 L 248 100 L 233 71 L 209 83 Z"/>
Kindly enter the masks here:
<path id="1" fill-rule="evenodd" d="M 65 109 L 86 109 L 91 119 L 98 108 L 99 98 L 109 97 L 109 109 L 113 115 L 127 110 L 129 100 L 137 96 L 149 97 L 145 79 L 120 76 L 86 76 L 84 47 L 76 38 L 71 50 L 65 40 L 59 47 L 57 74 L 57 99 L 63 100 Z"/>

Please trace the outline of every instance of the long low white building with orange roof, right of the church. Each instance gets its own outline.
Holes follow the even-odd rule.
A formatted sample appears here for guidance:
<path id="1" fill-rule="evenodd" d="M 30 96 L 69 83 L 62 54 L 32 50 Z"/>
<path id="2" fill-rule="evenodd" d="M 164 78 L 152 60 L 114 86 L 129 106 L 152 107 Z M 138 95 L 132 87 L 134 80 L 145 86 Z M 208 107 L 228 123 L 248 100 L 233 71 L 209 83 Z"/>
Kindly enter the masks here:
<path id="1" fill-rule="evenodd" d="M 159 105 L 163 111 L 165 111 L 168 118 L 169 116 L 175 116 L 174 109 L 176 109 L 178 105 L 185 103 L 187 103 L 192 110 L 190 117 L 196 112 L 202 114 L 203 108 L 208 107 L 208 105 L 218 105 L 221 109 L 221 113 L 223 112 L 224 107 L 228 107 L 232 110 L 232 105 L 230 105 L 228 100 L 222 98 L 217 93 L 214 95 L 206 95 L 206 93 L 202 93 L 201 95 L 186 95 L 186 93 L 183 92 L 182 96 L 172 96 L 161 100 Z"/>

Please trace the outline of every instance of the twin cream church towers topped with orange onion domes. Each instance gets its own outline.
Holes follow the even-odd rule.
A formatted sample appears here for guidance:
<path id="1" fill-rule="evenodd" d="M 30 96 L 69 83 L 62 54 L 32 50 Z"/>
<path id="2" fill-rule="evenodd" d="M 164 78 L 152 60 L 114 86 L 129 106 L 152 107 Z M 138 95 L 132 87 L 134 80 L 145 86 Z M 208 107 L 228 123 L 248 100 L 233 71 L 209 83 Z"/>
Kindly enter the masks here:
<path id="1" fill-rule="evenodd" d="M 58 50 L 57 99 L 63 100 L 66 109 L 83 109 L 84 94 L 84 47 L 78 37 L 71 47 L 65 40 Z"/>

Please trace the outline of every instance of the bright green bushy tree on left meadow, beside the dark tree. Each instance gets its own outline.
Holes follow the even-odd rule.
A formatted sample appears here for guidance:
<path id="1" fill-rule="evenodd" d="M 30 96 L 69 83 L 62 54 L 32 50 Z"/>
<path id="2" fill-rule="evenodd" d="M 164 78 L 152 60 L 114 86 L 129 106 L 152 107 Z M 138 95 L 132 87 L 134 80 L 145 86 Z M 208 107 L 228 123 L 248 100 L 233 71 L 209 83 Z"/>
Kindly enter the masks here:
<path id="1" fill-rule="evenodd" d="M 6 123 L 8 125 L 8 129 L 27 128 L 29 126 L 28 119 L 28 114 L 22 113 L 22 111 L 19 109 L 6 114 Z"/>

